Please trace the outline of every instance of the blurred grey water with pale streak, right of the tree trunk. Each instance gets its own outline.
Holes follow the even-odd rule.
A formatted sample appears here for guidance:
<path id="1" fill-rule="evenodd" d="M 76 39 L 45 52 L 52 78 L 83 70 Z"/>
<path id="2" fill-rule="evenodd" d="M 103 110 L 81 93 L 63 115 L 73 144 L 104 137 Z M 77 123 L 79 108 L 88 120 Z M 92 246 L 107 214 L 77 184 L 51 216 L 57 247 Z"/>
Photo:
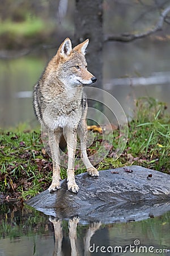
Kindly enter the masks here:
<path id="1" fill-rule="evenodd" d="M 135 100 L 154 97 L 170 112 L 170 46 L 165 42 L 108 43 L 104 57 L 104 88 L 133 113 Z"/>

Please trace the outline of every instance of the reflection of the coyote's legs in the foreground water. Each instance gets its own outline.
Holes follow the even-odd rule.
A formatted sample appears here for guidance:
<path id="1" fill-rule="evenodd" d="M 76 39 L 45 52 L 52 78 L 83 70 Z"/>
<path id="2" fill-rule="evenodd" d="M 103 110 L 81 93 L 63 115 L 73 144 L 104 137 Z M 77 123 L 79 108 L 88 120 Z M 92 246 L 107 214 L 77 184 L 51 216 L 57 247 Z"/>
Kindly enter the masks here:
<path id="1" fill-rule="evenodd" d="M 63 239 L 63 232 L 62 232 L 62 220 L 58 220 L 58 218 L 50 217 L 50 222 L 53 223 L 54 226 L 54 234 L 55 234 L 55 246 L 54 246 L 54 253 L 53 256 L 63 256 L 62 252 L 62 239 Z M 79 217 L 73 217 L 69 219 L 69 239 L 71 245 L 71 256 L 79 256 L 90 255 L 90 240 L 91 237 L 95 234 L 96 230 L 100 228 L 101 222 L 94 222 L 90 224 L 87 229 L 86 235 L 84 236 L 84 253 L 80 254 L 78 251 L 78 241 L 76 239 L 76 227 L 79 222 Z"/>

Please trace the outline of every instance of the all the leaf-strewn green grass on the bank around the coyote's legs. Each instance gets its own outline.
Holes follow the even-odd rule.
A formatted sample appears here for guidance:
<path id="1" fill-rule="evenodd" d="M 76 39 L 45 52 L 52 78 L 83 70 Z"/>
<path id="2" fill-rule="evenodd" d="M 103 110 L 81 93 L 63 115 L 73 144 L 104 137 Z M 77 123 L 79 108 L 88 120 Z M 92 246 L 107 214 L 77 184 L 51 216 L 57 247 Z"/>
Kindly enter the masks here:
<path id="1" fill-rule="evenodd" d="M 108 155 L 96 167 L 98 170 L 137 164 L 170 173 L 170 115 L 165 105 L 151 98 L 137 101 L 134 118 L 129 122 L 129 137 L 120 158 L 113 159 L 118 145 L 119 130 L 108 134 L 106 143 L 112 143 Z M 23 126 L 24 128 L 24 126 Z M 94 143 L 88 155 L 100 146 L 103 135 L 94 133 Z M 113 141 L 113 142 L 112 142 Z M 48 188 L 52 181 L 52 160 L 43 150 L 40 131 L 0 131 L 0 191 L 2 196 L 27 199 Z M 77 153 L 77 157 L 79 152 Z M 76 174 L 86 170 L 77 167 Z M 66 168 L 61 168 L 61 177 L 66 177 Z"/>

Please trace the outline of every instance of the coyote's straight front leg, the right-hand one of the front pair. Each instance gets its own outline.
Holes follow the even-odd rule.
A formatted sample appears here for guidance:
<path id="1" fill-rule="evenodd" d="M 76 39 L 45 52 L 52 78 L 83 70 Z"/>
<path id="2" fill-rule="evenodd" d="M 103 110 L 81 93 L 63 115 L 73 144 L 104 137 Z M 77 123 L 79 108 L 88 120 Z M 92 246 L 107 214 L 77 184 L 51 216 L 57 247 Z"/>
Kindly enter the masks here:
<path id="1" fill-rule="evenodd" d="M 68 151 L 68 167 L 67 167 L 67 187 L 70 191 L 78 193 L 79 187 L 75 183 L 74 176 L 74 161 L 75 161 L 75 150 L 76 150 L 76 131 L 69 131 L 67 129 L 67 151 Z"/>

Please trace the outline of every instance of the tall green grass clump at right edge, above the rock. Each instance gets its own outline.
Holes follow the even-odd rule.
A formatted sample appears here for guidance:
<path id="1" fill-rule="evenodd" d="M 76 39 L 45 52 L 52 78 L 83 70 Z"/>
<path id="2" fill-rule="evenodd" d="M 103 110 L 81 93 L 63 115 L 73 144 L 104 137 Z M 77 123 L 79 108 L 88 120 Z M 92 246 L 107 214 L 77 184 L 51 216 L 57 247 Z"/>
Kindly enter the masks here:
<path id="1" fill-rule="evenodd" d="M 170 171 L 170 117 L 166 105 L 153 98 L 137 101 L 135 118 L 129 123 L 129 153 L 158 171 Z"/>

